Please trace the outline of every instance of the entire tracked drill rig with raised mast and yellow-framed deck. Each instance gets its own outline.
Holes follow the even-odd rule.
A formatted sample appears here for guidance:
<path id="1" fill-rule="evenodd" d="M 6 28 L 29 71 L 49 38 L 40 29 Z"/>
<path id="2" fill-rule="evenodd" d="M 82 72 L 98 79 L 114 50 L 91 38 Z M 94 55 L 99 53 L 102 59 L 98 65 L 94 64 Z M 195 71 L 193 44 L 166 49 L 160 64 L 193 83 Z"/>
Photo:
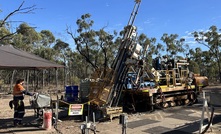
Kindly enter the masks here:
<path id="1" fill-rule="evenodd" d="M 146 111 L 195 102 L 199 89 L 208 85 L 206 77 L 190 73 L 187 60 L 173 60 L 172 65 L 167 62 L 167 68 L 160 68 L 163 64 L 158 60 L 151 70 L 146 68 L 148 45 L 137 42 L 133 26 L 140 3 L 135 1 L 111 68 L 106 75 L 95 72 L 91 77 L 90 105 L 110 118 L 119 116 L 123 109 Z"/>

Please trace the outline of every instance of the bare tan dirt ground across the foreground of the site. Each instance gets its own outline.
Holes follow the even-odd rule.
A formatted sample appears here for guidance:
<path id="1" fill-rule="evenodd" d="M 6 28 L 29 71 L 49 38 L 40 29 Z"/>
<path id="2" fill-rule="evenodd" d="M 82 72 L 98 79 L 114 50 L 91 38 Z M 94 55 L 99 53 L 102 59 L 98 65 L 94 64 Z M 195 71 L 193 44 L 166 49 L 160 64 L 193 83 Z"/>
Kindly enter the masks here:
<path id="1" fill-rule="evenodd" d="M 52 96 L 53 100 L 55 100 L 55 96 Z M 29 103 L 29 96 L 25 96 L 24 103 L 26 106 L 26 114 L 23 119 L 24 126 L 21 128 L 13 127 L 13 109 L 10 109 L 8 102 L 12 99 L 12 95 L 1 95 L 0 94 L 0 134 L 81 134 L 80 126 L 85 124 L 85 121 L 82 121 L 81 117 L 77 116 L 67 116 L 67 110 L 60 110 L 59 111 L 59 122 L 56 128 L 51 130 L 43 130 L 42 126 L 34 122 L 36 117 L 34 116 L 34 110 L 30 107 Z M 202 102 L 201 102 L 202 103 Z M 190 128 L 193 129 L 191 124 L 196 125 L 196 131 L 199 129 L 199 119 L 201 119 L 201 110 L 202 104 L 198 105 L 197 107 L 189 107 L 190 109 L 180 109 L 177 110 L 177 113 L 172 113 L 173 110 L 167 112 L 153 112 L 153 113 L 136 113 L 128 115 L 128 121 L 131 122 L 132 129 L 128 128 L 128 134 L 146 134 L 142 130 L 148 129 L 151 131 L 152 128 L 158 127 L 160 130 L 168 129 L 179 129 L 179 128 Z M 176 111 L 176 110 L 175 110 Z M 174 112 L 174 111 L 173 111 Z M 182 114 L 184 113 L 184 114 Z M 187 115 L 188 113 L 192 113 L 194 118 L 196 118 L 196 122 L 192 122 L 192 115 Z M 174 117 L 175 115 L 182 114 L 179 117 Z M 151 116 L 155 115 L 155 116 Z M 180 119 L 180 117 L 186 117 L 189 121 L 185 121 L 184 119 Z M 220 118 L 220 116 L 219 116 Z M 154 119 L 153 124 L 148 124 L 148 119 Z M 142 120 L 141 124 L 139 120 Z M 153 120 L 150 120 L 151 122 Z M 158 123 L 157 123 L 158 122 Z M 221 121 L 220 121 L 221 122 Z M 137 123 L 137 124 L 136 124 Z M 142 127 L 143 124 L 146 124 Z M 119 124 L 119 119 L 114 118 L 112 121 L 105 121 L 105 122 L 96 122 L 96 130 L 99 134 L 120 134 L 122 133 L 122 126 Z M 133 126 L 140 126 L 137 129 L 133 129 Z M 182 127 L 177 127 L 182 126 Z M 216 126 L 216 125 L 213 125 Z M 167 128 L 166 128 L 167 127 Z M 218 126 L 220 130 L 218 133 L 221 132 L 221 124 Z M 157 129 L 154 129 L 156 131 Z M 92 131 L 90 133 L 93 133 Z M 157 133 L 157 132 L 153 132 Z"/>

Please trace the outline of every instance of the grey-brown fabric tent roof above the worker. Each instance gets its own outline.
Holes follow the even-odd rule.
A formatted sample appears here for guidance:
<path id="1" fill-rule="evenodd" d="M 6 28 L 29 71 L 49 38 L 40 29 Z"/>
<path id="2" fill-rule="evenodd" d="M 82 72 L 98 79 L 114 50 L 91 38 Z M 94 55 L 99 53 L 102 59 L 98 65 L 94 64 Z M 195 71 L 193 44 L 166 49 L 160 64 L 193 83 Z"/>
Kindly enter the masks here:
<path id="1" fill-rule="evenodd" d="M 0 46 L 0 68 L 36 69 L 62 67 L 64 66 L 38 57 L 37 55 L 18 50 L 12 45 Z"/>

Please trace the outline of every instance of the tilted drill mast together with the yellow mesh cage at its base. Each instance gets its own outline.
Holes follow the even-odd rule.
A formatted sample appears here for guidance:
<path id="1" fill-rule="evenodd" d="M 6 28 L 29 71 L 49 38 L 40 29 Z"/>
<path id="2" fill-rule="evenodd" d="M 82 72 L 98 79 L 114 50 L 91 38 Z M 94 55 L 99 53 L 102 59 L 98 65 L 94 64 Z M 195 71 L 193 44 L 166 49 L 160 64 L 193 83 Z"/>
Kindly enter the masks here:
<path id="1" fill-rule="evenodd" d="M 136 42 L 136 30 L 133 26 L 141 0 L 136 0 L 133 11 L 127 26 L 124 28 L 124 35 L 119 46 L 111 68 L 107 70 L 107 75 L 98 76 L 96 73 L 90 82 L 89 101 L 90 104 L 98 109 L 102 109 L 106 115 L 113 116 L 122 112 L 122 107 L 118 107 L 122 91 L 125 88 L 125 81 L 128 72 L 133 70 L 137 74 L 140 71 L 132 66 L 141 62 L 142 51 L 146 51 L 147 46 L 142 47 Z M 137 80 L 138 81 L 138 80 Z"/>

